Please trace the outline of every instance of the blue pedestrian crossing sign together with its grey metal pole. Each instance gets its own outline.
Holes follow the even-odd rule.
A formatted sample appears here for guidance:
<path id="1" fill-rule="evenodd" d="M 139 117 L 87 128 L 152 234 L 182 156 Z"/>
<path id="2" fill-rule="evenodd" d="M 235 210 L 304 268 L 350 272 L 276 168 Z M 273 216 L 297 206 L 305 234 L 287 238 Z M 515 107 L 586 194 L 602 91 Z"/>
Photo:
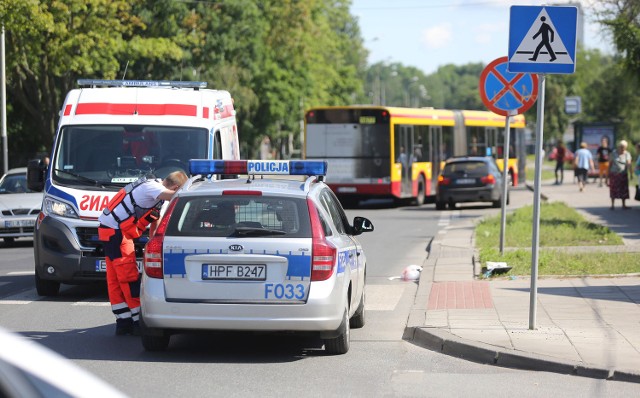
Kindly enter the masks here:
<path id="1" fill-rule="evenodd" d="M 575 72 L 577 25 L 578 9 L 576 7 L 511 6 L 507 69 L 509 72 L 540 74 L 533 195 L 533 236 L 531 237 L 529 329 L 536 328 L 538 301 L 540 179 L 542 174 L 545 74 Z"/>

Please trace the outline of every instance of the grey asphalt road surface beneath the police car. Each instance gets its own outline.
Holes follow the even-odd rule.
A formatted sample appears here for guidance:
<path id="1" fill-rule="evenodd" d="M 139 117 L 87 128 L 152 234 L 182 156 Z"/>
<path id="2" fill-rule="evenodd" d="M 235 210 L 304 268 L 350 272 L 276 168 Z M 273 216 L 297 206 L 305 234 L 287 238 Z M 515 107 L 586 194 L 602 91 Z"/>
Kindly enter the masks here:
<path id="1" fill-rule="evenodd" d="M 481 365 L 418 347 L 402 338 L 417 286 L 399 280 L 421 264 L 451 217 L 490 211 L 433 205 L 365 204 L 361 236 L 368 259 L 367 323 L 351 350 L 326 356 L 317 339 L 289 334 L 200 333 L 174 336 L 169 351 L 147 353 L 139 338 L 114 335 L 106 288 L 64 286 L 44 299 L 33 286 L 28 240 L 0 245 L 0 325 L 53 349 L 132 397 L 166 396 L 637 396 L 637 385 Z"/>

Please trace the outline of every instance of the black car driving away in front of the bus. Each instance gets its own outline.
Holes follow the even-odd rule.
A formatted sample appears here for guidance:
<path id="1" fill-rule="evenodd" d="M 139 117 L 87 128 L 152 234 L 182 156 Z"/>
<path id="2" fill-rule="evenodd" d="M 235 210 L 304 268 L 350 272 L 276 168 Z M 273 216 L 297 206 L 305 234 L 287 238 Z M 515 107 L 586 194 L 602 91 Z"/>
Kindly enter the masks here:
<path id="1" fill-rule="evenodd" d="M 502 172 L 492 157 L 450 158 L 438 176 L 436 209 L 444 210 L 447 205 L 453 209 L 463 202 L 491 202 L 493 207 L 500 207 L 502 181 Z"/>

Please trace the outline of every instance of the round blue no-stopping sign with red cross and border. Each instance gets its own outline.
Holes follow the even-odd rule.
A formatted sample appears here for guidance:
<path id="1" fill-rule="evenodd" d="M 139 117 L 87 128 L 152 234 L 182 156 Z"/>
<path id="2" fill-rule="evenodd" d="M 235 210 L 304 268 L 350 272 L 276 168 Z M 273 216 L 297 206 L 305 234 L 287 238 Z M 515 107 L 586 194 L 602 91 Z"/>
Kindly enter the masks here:
<path id="1" fill-rule="evenodd" d="M 494 60 L 480 74 L 480 98 L 490 111 L 502 116 L 524 113 L 538 98 L 535 74 L 509 72 L 508 57 Z"/>

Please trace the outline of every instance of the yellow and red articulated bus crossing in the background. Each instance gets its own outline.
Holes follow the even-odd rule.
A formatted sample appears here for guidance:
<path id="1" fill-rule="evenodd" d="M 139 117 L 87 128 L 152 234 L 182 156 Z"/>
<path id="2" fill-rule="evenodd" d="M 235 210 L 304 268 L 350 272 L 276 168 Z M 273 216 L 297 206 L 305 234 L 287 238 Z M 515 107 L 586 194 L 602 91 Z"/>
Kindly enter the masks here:
<path id="1" fill-rule="evenodd" d="M 524 116 L 512 118 L 508 173 L 525 169 Z M 345 205 L 393 198 L 421 205 L 435 196 L 438 174 L 452 156 L 493 156 L 503 170 L 505 118 L 486 111 L 384 106 L 307 110 L 306 159 L 326 159 L 326 181 Z"/>

